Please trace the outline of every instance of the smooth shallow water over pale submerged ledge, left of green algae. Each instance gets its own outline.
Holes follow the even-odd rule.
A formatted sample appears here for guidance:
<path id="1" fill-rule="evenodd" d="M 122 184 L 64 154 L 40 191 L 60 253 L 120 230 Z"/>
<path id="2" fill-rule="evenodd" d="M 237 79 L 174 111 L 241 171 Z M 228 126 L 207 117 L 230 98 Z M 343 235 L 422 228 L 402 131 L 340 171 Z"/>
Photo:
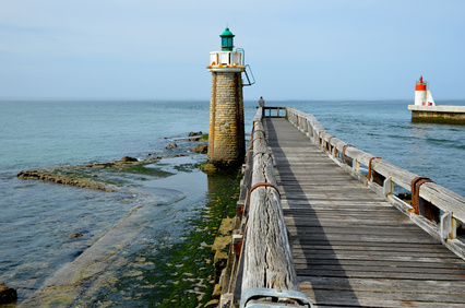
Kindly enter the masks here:
<path id="1" fill-rule="evenodd" d="M 122 201 L 136 204 L 129 214 L 108 229 L 103 229 L 94 237 L 90 248 L 51 273 L 44 286 L 23 304 L 62 306 L 94 303 L 121 273 L 128 274 L 126 266 L 133 262 L 139 251 L 147 247 L 163 250 L 178 242 L 189 218 L 200 215 L 206 203 L 206 175 L 193 167 L 199 159 L 203 157 L 167 158 L 146 165 L 146 168 L 163 169 L 171 175 L 133 178 L 126 187 L 130 189 L 128 193 L 138 200 Z M 187 164 L 191 165 L 189 171 L 176 169 Z M 83 229 L 81 223 L 76 225 L 80 230 Z M 84 242 L 85 238 L 72 241 Z M 53 292 L 49 293 L 48 288 Z"/>

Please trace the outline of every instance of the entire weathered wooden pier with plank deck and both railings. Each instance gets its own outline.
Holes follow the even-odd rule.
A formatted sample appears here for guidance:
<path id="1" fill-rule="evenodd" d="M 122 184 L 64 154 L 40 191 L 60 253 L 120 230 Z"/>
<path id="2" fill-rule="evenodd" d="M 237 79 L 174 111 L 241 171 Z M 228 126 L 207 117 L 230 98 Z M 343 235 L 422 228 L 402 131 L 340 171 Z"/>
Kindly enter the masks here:
<path id="1" fill-rule="evenodd" d="M 220 307 L 465 305 L 465 198 L 311 115 L 266 112 L 254 119 Z M 396 186 L 414 187 L 414 204 Z"/>

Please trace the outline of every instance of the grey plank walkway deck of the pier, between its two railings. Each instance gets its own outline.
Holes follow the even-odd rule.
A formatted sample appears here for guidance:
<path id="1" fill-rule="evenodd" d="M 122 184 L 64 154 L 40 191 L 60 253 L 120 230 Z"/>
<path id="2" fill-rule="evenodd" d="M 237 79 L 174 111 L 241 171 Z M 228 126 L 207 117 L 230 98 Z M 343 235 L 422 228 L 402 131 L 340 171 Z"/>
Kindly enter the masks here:
<path id="1" fill-rule="evenodd" d="M 465 307 L 464 260 L 286 119 L 263 123 L 299 285 L 315 307 Z"/>

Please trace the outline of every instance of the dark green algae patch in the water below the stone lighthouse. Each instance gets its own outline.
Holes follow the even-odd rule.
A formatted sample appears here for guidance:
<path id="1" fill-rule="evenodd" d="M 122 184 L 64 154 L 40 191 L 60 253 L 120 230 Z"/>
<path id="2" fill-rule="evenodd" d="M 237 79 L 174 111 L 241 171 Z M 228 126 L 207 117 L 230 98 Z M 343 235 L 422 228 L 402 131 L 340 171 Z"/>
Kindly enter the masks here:
<path id="1" fill-rule="evenodd" d="M 188 221 L 182 235 L 169 236 L 133 256 L 103 306 L 202 307 L 212 298 L 212 245 L 225 217 L 234 217 L 240 178 L 236 173 L 208 176 L 205 206 Z M 128 303 L 126 303 L 128 300 Z"/>

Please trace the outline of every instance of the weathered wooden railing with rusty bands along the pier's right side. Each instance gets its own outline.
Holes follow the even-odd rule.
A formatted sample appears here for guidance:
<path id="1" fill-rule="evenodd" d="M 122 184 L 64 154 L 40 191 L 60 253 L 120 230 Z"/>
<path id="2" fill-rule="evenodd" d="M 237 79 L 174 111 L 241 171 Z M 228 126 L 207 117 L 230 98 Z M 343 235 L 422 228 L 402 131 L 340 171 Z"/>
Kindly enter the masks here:
<path id="1" fill-rule="evenodd" d="M 457 238 L 457 229 L 465 222 L 464 197 L 331 135 L 313 115 L 288 108 L 287 118 L 341 167 L 465 259 L 465 244 Z M 395 186 L 412 193 L 412 204 L 394 194 Z"/>

